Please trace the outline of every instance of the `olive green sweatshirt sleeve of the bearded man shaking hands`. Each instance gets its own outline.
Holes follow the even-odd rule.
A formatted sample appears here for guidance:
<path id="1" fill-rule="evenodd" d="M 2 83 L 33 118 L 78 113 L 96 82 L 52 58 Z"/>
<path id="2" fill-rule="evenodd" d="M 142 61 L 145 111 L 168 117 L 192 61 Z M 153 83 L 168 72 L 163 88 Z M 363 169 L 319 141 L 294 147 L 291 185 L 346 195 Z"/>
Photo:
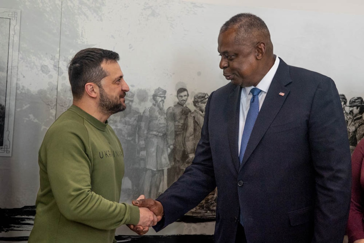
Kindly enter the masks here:
<path id="1" fill-rule="evenodd" d="M 107 200 L 91 190 L 92 163 L 87 150 L 87 130 L 82 126 L 52 129 L 46 134 L 39 156 L 47 163 L 39 162 L 60 213 L 68 220 L 103 230 L 137 224 L 138 207 Z"/>

